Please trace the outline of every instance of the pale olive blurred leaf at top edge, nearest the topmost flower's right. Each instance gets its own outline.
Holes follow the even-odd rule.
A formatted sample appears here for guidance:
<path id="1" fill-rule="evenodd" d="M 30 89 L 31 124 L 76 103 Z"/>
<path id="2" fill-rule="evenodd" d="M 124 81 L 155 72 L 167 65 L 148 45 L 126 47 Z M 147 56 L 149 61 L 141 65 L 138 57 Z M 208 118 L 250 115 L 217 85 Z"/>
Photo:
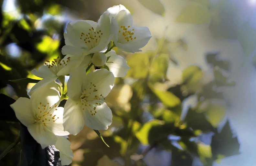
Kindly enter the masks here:
<path id="1" fill-rule="evenodd" d="M 164 15 L 165 8 L 160 0 L 138 0 L 145 8 L 151 10 L 155 14 Z"/>

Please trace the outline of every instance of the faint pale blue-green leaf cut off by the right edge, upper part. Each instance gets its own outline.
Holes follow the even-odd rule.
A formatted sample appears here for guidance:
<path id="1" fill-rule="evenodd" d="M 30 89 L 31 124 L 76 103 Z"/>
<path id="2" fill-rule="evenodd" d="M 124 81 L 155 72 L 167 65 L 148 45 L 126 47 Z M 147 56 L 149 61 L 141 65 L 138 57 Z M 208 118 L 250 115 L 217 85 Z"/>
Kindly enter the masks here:
<path id="1" fill-rule="evenodd" d="M 256 48 L 256 28 L 250 22 L 238 27 L 238 40 L 243 47 L 245 55 L 250 55 Z"/>

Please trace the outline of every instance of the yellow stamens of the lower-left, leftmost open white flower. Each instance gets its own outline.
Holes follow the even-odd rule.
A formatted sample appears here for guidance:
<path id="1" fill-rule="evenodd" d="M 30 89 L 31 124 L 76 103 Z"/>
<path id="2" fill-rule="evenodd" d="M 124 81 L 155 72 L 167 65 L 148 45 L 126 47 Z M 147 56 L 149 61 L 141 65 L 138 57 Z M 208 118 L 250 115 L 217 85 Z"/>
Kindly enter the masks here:
<path id="1" fill-rule="evenodd" d="M 37 123 L 43 123 L 44 126 L 46 126 L 49 123 L 55 122 L 59 117 L 55 117 L 56 115 L 53 115 L 53 112 L 55 110 L 58 110 L 57 104 L 55 103 L 53 106 L 48 107 L 49 103 L 47 105 L 42 104 L 41 102 L 38 105 L 36 115 L 35 115 L 35 122 Z"/>

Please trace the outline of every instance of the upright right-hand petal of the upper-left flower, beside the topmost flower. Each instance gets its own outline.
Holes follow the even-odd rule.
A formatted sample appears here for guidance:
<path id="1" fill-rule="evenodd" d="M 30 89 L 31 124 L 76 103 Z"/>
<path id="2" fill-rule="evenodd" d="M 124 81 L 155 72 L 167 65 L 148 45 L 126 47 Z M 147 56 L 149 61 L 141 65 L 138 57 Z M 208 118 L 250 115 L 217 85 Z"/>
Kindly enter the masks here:
<path id="1" fill-rule="evenodd" d="M 89 53 L 97 53 L 97 52 L 101 52 L 102 50 L 105 49 L 105 47 L 109 44 L 109 42 L 111 41 L 113 34 L 111 34 L 111 23 L 110 23 L 110 19 L 107 13 L 103 13 L 103 15 L 101 15 L 100 19 L 99 19 L 99 23 L 96 27 L 96 32 L 101 30 L 101 40 L 99 42 L 99 44 L 92 48 Z"/>

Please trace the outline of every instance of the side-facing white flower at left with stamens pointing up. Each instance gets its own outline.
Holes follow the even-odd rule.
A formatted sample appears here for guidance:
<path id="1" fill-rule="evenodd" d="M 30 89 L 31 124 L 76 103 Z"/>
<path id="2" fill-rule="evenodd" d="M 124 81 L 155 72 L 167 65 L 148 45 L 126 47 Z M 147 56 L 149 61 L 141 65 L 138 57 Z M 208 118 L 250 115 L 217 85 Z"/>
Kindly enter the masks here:
<path id="1" fill-rule="evenodd" d="M 42 65 L 38 70 L 33 69 L 31 73 L 37 77 L 43 78 L 37 84 L 35 84 L 29 91 L 29 95 L 42 86 L 47 85 L 48 83 L 55 81 L 60 76 L 69 74 L 70 68 L 77 66 L 88 66 L 91 58 L 88 56 L 73 56 L 66 55 L 62 60 L 57 57 L 53 59 L 52 62 L 46 61 L 45 65 Z"/>

